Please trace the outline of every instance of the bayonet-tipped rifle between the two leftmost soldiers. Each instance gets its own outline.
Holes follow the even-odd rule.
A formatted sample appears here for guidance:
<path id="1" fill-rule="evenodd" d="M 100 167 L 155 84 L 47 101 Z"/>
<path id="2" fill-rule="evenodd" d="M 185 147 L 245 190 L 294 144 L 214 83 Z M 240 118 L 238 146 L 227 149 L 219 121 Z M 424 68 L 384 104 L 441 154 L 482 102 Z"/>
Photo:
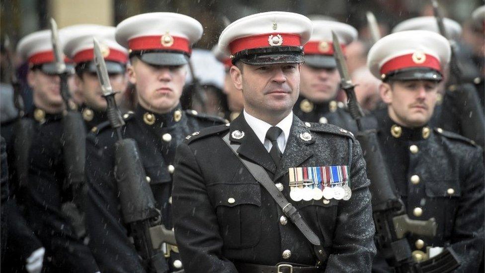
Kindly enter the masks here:
<path id="1" fill-rule="evenodd" d="M 84 164 L 86 156 L 86 129 L 78 106 L 71 98 L 68 86 L 69 73 L 61 52 L 57 23 L 51 18 L 51 41 L 54 51 L 57 75 L 61 80 L 61 96 L 66 104 L 62 117 L 61 143 L 63 147 L 64 168 L 66 179 L 64 189 L 71 189 L 73 200 L 62 204 L 62 211 L 71 219 L 78 238 L 85 234 L 82 214 L 79 207 L 81 192 L 84 185 Z"/>

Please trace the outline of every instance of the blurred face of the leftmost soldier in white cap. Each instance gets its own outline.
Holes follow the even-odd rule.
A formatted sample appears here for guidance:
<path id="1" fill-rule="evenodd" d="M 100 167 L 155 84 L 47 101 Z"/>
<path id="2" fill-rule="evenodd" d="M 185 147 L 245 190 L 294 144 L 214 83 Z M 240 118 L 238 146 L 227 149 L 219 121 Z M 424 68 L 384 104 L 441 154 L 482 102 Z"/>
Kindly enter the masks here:
<path id="1" fill-rule="evenodd" d="M 49 75 L 36 69 L 29 71 L 27 81 L 34 91 L 34 102 L 38 106 L 60 107 L 64 103 L 59 76 Z"/>

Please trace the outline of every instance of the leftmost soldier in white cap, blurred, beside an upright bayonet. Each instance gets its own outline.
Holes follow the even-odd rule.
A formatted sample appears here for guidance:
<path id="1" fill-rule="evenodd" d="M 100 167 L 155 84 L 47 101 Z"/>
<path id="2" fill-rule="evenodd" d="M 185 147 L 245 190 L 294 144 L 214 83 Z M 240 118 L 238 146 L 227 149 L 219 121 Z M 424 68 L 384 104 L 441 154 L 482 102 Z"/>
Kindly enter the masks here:
<path id="1" fill-rule="evenodd" d="M 75 28 L 69 31 L 75 31 Z M 61 31 L 61 38 L 65 35 L 66 32 Z M 97 272 L 89 249 L 61 211 L 62 204 L 72 196 L 63 187 L 66 175 L 61 119 L 65 104 L 60 94 L 51 31 L 43 30 L 24 37 L 17 51 L 30 64 L 27 80 L 33 89 L 36 107 L 29 148 L 27 221 L 45 247 L 47 270 Z"/>

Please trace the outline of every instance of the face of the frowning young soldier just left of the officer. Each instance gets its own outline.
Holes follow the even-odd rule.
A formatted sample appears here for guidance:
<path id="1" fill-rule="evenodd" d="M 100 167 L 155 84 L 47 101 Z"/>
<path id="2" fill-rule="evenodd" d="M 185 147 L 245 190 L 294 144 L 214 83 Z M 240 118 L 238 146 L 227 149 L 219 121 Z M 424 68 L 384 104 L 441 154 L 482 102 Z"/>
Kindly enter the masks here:
<path id="1" fill-rule="evenodd" d="M 141 106 L 166 113 L 177 106 L 185 84 L 185 66 L 152 66 L 136 59 L 128 67 L 129 80 L 136 86 Z"/>

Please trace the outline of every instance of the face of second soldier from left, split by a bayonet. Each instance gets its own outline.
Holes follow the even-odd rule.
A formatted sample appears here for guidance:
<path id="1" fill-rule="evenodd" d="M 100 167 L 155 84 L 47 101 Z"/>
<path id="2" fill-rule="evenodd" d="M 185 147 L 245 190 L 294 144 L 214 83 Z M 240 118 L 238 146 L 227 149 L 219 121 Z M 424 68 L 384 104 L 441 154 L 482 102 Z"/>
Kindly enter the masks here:
<path id="1" fill-rule="evenodd" d="M 96 73 L 84 72 L 81 77 L 76 76 L 76 85 L 82 93 L 84 103 L 94 110 L 104 111 L 107 103 L 102 96 L 101 85 Z M 121 99 L 123 92 L 126 90 L 127 81 L 125 74 L 110 74 L 109 82 L 113 91 L 119 92 L 115 94 L 116 102 L 119 103 L 119 99 Z"/>

